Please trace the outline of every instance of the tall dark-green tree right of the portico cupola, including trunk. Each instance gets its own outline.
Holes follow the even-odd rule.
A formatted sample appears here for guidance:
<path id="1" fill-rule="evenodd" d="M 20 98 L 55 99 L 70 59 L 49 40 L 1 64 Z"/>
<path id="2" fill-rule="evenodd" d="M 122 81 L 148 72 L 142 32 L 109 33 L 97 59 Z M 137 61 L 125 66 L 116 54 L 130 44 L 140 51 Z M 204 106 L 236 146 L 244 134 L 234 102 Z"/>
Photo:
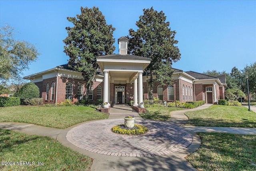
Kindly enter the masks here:
<path id="1" fill-rule="evenodd" d="M 143 9 L 144 14 L 136 22 L 137 31 L 129 29 L 128 52 L 152 59 L 146 67 L 149 99 L 153 99 L 153 83 L 161 85 L 172 83 L 172 62 L 180 59 L 178 43 L 174 39 L 176 31 L 171 31 L 170 22 L 166 22 L 164 12 L 153 7 Z M 154 77 L 156 75 L 156 77 Z"/>

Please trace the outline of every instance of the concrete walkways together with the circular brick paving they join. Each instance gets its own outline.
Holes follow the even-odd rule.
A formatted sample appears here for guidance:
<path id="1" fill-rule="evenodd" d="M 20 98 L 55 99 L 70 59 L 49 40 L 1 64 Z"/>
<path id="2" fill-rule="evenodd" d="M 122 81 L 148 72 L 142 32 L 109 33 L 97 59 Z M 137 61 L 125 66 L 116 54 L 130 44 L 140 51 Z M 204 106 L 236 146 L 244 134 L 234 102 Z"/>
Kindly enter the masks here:
<path id="1" fill-rule="evenodd" d="M 195 109 L 171 112 L 172 118 L 166 122 L 144 120 L 129 106 L 115 105 L 110 109 L 108 120 L 84 122 L 65 130 L 24 123 L 0 123 L 0 128 L 54 138 L 92 157 L 92 171 L 196 171 L 184 159 L 200 147 L 201 141 L 195 132 L 256 134 L 256 128 L 182 126 L 188 120 L 184 112 L 209 106 L 204 104 Z M 146 125 L 150 131 L 141 136 L 112 133 L 112 126 L 122 123 L 124 116 L 129 114 L 135 116 L 136 124 Z"/>

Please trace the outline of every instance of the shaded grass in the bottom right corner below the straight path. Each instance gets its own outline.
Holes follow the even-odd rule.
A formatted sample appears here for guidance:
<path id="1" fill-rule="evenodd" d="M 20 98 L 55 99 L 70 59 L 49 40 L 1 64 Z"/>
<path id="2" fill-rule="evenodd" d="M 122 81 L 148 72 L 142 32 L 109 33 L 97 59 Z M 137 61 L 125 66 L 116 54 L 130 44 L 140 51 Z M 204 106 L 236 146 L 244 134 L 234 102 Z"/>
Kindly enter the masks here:
<path id="1" fill-rule="evenodd" d="M 197 134 L 202 145 L 186 159 L 199 171 L 256 170 L 256 135 Z"/>

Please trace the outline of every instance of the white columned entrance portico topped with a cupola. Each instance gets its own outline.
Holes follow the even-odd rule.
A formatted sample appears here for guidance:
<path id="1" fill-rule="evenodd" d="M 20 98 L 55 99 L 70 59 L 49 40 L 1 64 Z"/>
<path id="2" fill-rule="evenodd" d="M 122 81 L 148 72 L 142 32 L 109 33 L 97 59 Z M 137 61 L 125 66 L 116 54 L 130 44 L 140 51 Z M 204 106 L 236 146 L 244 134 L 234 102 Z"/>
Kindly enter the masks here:
<path id="1" fill-rule="evenodd" d="M 98 65 L 104 73 L 103 102 L 110 102 L 110 93 L 114 94 L 114 103 L 124 103 L 126 84 L 133 84 L 134 106 L 143 101 L 142 73 L 151 59 L 128 55 L 128 39 L 118 39 L 119 54 L 97 57 Z M 110 83 L 114 90 L 110 90 Z"/>

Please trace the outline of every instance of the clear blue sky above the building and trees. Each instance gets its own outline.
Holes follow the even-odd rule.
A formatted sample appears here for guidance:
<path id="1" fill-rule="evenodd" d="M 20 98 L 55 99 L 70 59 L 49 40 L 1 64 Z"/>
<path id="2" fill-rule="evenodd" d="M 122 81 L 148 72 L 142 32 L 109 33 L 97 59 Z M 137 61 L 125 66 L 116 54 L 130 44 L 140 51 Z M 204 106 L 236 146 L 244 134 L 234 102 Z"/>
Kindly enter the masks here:
<path id="1" fill-rule="evenodd" d="M 256 61 L 256 1 L 85 1 L 0 0 L 0 26 L 18 32 L 15 38 L 34 44 L 40 55 L 24 76 L 67 63 L 63 52 L 66 18 L 80 14 L 80 7 L 99 7 L 107 24 L 116 28 L 114 38 L 128 35 L 144 8 L 161 10 L 176 30 L 180 61 L 173 67 L 202 73 L 239 70 Z M 114 44 L 118 53 L 118 44 Z"/>

